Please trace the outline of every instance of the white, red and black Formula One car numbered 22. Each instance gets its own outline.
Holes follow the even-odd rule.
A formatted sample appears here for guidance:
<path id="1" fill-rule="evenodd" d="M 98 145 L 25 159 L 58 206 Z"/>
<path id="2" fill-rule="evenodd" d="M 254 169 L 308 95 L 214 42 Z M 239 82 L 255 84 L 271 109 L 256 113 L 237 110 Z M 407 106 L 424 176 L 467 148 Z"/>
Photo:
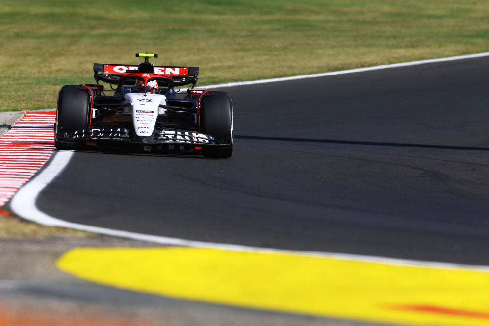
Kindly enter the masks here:
<path id="1" fill-rule="evenodd" d="M 54 125 L 56 148 L 116 147 L 231 157 L 229 95 L 195 89 L 198 67 L 154 66 L 149 58 L 157 54 L 137 53 L 136 57 L 143 57 L 144 62 L 138 66 L 94 63 L 96 84 L 61 88 Z M 99 81 L 108 83 L 111 90 L 104 90 Z M 185 94 L 178 94 L 181 86 L 190 84 Z"/>

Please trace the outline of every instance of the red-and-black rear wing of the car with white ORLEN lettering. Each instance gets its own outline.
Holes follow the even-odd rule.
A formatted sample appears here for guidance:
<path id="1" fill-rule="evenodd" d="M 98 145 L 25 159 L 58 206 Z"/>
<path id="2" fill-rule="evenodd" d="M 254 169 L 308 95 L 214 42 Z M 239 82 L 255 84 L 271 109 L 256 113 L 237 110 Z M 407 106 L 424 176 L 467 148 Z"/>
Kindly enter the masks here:
<path id="1" fill-rule="evenodd" d="M 137 72 L 137 65 L 94 63 L 93 72 L 95 81 L 117 84 L 123 75 Z M 172 77 L 175 86 L 184 86 L 197 83 L 199 67 L 154 66 L 154 73 Z M 192 87 L 193 87 L 192 86 Z"/>

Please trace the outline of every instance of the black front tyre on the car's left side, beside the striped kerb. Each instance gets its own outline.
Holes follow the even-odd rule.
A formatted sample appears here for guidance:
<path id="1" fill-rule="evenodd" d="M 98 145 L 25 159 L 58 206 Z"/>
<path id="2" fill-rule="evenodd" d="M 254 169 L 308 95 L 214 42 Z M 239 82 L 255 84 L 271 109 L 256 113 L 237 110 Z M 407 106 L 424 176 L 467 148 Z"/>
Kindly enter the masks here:
<path id="1" fill-rule="evenodd" d="M 58 135 L 88 129 L 90 92 L 79 85 L 65 85 L 58 94 L 54 146 L 58 150 L 82 150 L 83 142 L 60 141 Z"/>

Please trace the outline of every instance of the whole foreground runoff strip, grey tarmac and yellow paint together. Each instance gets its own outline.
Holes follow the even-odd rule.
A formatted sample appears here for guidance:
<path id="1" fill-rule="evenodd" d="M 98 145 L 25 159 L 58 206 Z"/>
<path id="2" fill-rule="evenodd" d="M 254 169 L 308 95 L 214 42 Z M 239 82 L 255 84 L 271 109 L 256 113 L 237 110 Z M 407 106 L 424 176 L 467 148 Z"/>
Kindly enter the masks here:
<path id="1" fill-rule="evenodd" d="M 487 293 L 481 284 L 489 284 L 488 273 L 481 271 L 294 253 L 155 248 L 108 236 L 0 239 L 0 248 L 2 326 L 384 325 L 320 317 L 351 316 L 352 310 L 362 312 L 359 307 L 362 319 L 367 313 L 375 319 L 390 314 L 410 325 L 487 325 L 488 319 L 484 307 L 478 312 L 472 304 L 477 293 Z M 430 298 L 445 306 L 391 304 L 408 302 L 409 293 L 411 299 Z M 439 298 L 433 298 L 436 293 Z M 219 301 L 233 306 L 206 303 Z M 471 308 L 446 308 L 455 301 Z M 240 308 L 253 305 L 275 311 Z"/>

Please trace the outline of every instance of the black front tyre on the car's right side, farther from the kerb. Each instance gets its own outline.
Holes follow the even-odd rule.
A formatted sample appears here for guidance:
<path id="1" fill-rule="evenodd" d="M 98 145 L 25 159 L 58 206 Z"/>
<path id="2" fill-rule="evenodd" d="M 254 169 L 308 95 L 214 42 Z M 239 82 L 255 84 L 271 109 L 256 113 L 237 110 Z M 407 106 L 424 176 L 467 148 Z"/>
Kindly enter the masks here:
<path id="1" fill-rule="evenodd" d="M 232 100 L 226 92 L 204 94 L 200 103 L 200 124 L 203 133 L 228 146 L 203 146 L 204 157 L 230 158 L 233 150 Z"/>

